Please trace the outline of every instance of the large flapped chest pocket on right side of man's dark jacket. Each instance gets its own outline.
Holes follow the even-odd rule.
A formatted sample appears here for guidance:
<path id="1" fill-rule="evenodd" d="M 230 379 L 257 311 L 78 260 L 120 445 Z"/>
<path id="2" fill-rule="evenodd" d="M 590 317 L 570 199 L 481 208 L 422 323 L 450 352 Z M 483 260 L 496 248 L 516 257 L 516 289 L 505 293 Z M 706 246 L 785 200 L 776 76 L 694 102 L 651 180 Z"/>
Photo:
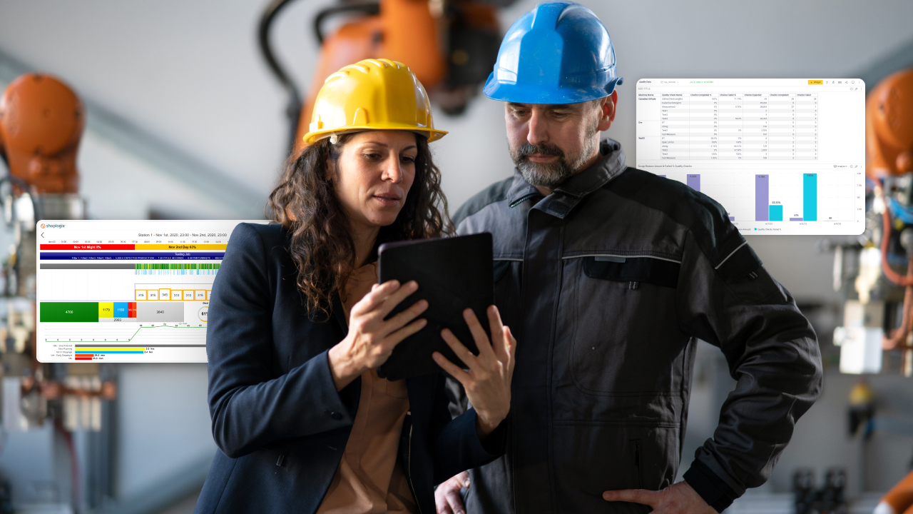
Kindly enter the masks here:
<path id="1" fill-rule="evenodd" d="M 576 386 L 605 396 L 670 392 L 688 338 L 676 312 L 679 264 L 584 257 L 568 271 L 576 277 L 568 356 Z"/>

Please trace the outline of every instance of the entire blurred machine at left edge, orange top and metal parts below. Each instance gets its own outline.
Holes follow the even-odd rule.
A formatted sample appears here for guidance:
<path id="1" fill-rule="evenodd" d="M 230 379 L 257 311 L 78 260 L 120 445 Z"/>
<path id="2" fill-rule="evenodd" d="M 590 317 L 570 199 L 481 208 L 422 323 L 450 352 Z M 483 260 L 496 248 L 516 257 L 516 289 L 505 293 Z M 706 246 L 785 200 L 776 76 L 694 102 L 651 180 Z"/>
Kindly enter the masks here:
<path id="1" fill-rule="evenodd" d="M 0 280 L 0 376 L 2 421 L 6 432 L 23 432 L 52 423 L 58 444 L 66 447 L 71 505 L 100 505 L 105 491 L 87 488 L 80 498 L 79 460 L 73 433 L 95 434 L 89 446 L 107 446 L 109 409 L 116 395 L 114 370 L 98 363 L 42 364 L 36 359 L 37 221 L 84 220 L 76 157 L 86 112 L 79 97 L 49 75 L 27 73 L 0 97 L 0 156 L 7 168 L 0 178 L 7 226 L 13 244 Z M 93 466 L 104 473 L 105 466 Z M 104 480 L 89 477 L 102 488 Z M 67 498 L 58 498 L 66 501 Z"/>

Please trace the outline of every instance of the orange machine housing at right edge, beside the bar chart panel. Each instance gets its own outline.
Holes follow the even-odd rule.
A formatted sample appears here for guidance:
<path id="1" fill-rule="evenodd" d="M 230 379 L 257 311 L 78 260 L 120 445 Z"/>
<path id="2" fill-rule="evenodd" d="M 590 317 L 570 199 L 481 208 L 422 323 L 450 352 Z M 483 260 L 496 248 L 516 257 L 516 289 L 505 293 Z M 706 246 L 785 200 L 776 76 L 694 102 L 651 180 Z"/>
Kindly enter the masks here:
<path id="1" fill-rule="evenodd" d="M 866 99 L 866 175 L 913 171 L 913 70 L 882 80 Z"/>

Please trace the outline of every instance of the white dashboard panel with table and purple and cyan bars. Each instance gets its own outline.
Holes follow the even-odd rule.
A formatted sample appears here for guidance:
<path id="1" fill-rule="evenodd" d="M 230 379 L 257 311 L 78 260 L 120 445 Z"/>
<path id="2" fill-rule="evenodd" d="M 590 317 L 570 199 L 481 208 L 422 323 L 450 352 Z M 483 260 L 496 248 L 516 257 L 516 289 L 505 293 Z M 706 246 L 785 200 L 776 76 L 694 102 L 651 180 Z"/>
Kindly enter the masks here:
<path id="1" fill-rule="evenodd" d="M 636 167 L 717 200 L 743 234 L 861 234 L 859 79 L 643 79 Z"/>

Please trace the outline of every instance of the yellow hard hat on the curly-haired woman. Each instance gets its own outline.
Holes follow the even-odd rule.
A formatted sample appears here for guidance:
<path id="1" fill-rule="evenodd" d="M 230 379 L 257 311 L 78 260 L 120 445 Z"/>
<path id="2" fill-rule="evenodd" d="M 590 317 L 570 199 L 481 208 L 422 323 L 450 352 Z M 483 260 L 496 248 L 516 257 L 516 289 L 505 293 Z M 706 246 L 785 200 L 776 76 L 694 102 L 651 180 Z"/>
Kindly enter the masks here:
<path id="1" fill-rule="evenodd" d="M 311 145 L 331 134 L 365 130 L 408 130 L 429 142 L 446 134 L 435 130 L 428 93 L 415 73 L 390 59 L 364 59 L 327 77 L 304 142 Z"/>

